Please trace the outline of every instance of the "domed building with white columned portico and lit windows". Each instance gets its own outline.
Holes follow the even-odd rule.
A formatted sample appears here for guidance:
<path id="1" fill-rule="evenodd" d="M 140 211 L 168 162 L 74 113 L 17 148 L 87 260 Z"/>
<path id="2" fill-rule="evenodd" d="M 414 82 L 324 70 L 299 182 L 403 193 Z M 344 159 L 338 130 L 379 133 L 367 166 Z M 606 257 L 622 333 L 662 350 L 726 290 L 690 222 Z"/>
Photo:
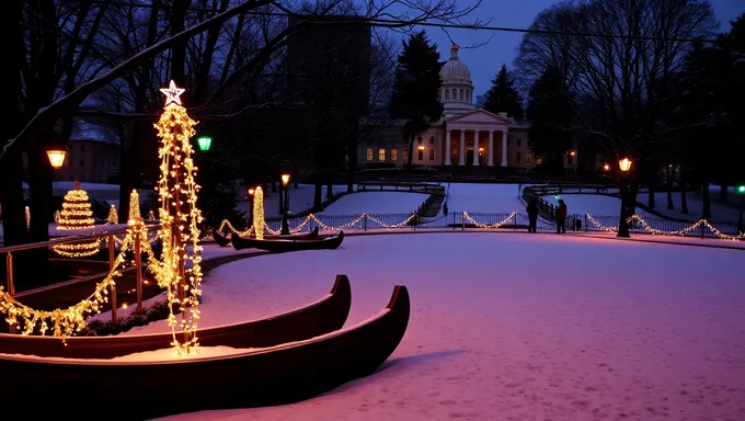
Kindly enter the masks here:
<path id="1" fill-rule="evenodd" d="M 488 166 L 530 168 L 536 164 L 528 148 L 528 127 L 506 113 L 493 114 L 473 104 L 473 82 L 468 66 L 452 45 L 440 70 L 443 117 L 414 143 L 412 163 L 419 166 Z M 396 126 L 396 127 L 393 127 Z M 404 166 L 409 144 L 401 139 L 400 125 L 385 136 L 374 136 L 360 146 L 358 162 L 367 166 Z"/>

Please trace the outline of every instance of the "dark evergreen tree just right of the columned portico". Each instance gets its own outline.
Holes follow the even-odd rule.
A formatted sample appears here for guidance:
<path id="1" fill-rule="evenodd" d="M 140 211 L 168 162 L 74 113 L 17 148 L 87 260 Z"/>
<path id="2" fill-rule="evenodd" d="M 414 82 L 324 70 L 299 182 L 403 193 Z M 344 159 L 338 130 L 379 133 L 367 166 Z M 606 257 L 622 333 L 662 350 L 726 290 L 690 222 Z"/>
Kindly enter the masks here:
<path id="1" fill-rule="evenodd" d="M 557 162 L 572 148 L 572 96 L 561 71 L 549 66 L 530 88 L 527 109 L 529 146 L 536 157 Z"/>

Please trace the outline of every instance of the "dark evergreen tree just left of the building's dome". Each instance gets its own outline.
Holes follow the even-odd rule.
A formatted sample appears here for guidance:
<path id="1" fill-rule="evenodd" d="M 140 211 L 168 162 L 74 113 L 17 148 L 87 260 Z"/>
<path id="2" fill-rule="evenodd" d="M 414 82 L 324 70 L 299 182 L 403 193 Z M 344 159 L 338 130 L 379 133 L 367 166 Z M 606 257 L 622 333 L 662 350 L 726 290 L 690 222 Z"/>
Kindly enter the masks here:
<path id="1" fill-rule="evenodd" d="M 399 55 L 396 67 L 390 115 L 406 120 L 402 135 L 409 140 L 409 169 L 414 155 L 414 139 L 429 128 L 431 123 L 443 116 L 443 104 L 439 102 L 443 87 L 439 71 L 443 65 L 437 45 L 429 44 L 424 31 L 403 43 L 403 52 Z"/>

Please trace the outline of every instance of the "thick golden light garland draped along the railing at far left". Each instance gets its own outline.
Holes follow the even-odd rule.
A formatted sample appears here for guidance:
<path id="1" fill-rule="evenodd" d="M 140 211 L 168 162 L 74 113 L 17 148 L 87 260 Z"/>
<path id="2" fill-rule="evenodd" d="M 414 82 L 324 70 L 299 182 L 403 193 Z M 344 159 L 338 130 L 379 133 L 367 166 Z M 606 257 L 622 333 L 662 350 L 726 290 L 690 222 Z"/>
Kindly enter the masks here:
<path id="1" fill-rule="evenodd" d="M 141 240 L 142 249 L 148 255 L 153 255 L 152 249 L 147 242 L 147 228 L 141 220 L 130 220 L 127 234 L 122 240 L 122 249 L 115 258 L 112 269 L 95 285 L 93 293 L 80 303 L 66 309 L 36 310 L 18 301 L 0 286 L 0 312 L 5 314 L 8 325 L 18 327 L 23 335 L 32 334 L 36 330 L 42 335 L 51 331 L 54 337 L 59 337 L 64 342 L 66 337 L 83 329 L 85 319 L 93 314 L 101 312 L 103 305 L 108 303 L 108 289 L 116 285 L 115 280 L 122 276 L 122 266 L 126 261 L 125 254 L 133 249 L 137 236 Z"/>

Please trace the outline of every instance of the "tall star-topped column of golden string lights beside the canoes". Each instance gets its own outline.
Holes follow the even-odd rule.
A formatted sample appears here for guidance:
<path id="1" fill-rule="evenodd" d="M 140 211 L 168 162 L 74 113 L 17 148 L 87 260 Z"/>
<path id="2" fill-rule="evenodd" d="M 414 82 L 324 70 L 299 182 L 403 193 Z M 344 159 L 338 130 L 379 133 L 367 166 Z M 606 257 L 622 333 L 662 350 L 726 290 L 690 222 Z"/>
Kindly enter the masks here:
<path id="1" fill-rule="evenodd" d="M 165 107 L 156 124 L 161 139 L 158 156 L 161 159 L 158 180 L 161 228 L 158 236 L 163 242 L 161 261 L 157 269 L 158 283 L 167 288 L 169 325 L 173 333 L 172 345 L 179 353 L 195 352 L 198 345 L 196 329 L 199 319 L 199 284 L 202 282 L 202 247 L 199 229 L 202 213 L 196 206 L 199 186 L 195 182 L 196 167 L 190 141 L 196 122 L 188 117 L 179 95 L 184 92 L 171 81 L 161 89 Z M 191 261 L 191 264 L 185 264 Z M 174 307 L 181 310 L 176 321 Z M 179 338 L 181 337 L 181 338 Z"/>

